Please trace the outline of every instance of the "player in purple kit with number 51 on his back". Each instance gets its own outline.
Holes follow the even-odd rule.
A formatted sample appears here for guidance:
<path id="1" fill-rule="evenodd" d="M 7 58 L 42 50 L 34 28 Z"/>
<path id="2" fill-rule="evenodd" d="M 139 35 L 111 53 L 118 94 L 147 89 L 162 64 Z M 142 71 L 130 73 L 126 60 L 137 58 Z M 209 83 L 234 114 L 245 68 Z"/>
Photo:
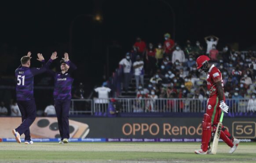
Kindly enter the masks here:
<path id="1" fill-rule="evenodd" d="M 57 53 L 52 53 L 51 59 L 45 64 L 42 54 L 37 53 L 37 60 L 39 60 L 43 67 L 30 68 L 31 53 L 21 58 L 21 66 L 15 70 L 15 78 L 17 79 L 16 96 L 18 108 L 22 114 L 22 124 L 12 130 L 13 135 L 18 143 L 21 143 L 20 135 L 25 135 L 25 144 L 33 144 L 30 138 L 29 126 L 36 119 L 36 103 L 34 99 L 34 76 L 47 71 L 52 60 L 55 60 Z"/>

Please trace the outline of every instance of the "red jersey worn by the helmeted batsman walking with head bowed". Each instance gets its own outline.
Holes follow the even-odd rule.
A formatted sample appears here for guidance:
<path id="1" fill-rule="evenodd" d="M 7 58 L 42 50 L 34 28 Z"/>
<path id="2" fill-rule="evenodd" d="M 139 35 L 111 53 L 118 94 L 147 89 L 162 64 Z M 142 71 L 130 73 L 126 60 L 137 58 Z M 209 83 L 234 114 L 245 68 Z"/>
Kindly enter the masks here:
<path id="1" fill-rule="evenodd" d="M 219 71 L 217 67 L 214 66 L 214 64 L 210 67 L 208 73 L 207 73 L 207 89 L 210 92 L 209 97 L 211 96 L 217 96 L 218 91 L 217 87 L 215 85 L 216 82 L 221 81 L 222 87 L 223 87 L 223 80 L 222 80 L 222 74 Z M 224 94 L 224 89 L 223 89 Z"/>

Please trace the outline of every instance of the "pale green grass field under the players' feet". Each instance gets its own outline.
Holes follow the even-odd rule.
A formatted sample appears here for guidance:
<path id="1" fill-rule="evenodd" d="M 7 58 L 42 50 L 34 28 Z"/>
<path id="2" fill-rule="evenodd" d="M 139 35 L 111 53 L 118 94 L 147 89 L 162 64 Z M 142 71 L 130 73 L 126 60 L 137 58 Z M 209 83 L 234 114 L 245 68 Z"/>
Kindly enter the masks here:
<path id="1" fill-rule="evenodd" d="M 233 154 L 219 143 L 216 155 L 196 155 L 200 143 L 70 142 L 0 143 L 0 162 L 256 162 L 256 142 L 241 142 Z"/>

